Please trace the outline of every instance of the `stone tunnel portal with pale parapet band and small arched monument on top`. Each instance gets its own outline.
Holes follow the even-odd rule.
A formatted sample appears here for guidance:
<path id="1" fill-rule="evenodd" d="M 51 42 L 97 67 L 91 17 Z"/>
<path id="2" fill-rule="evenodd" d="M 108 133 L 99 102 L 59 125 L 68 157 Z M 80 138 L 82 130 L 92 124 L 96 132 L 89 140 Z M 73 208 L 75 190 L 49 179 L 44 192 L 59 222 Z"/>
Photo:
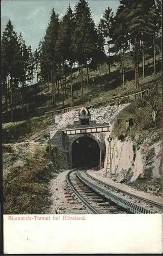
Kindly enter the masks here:
<path id="1" fill-rule="evenodd" d="M 61 131 L 60 145 L 63 144 L 67 152 L 70 168 L 96 167 L 102 168 L 105 160 L 105 133 L 110 132 L 110 125 L 96 123 L 91 120 L 88 109 L 82 108 L 78 112 L 78 120 L 73 125 Z M 60 133 L 60 132 L 59 132 Z M 59 144 L 58 136 L 55 136 Z M 57 142 L 57 143 L 56 143 Z"/>

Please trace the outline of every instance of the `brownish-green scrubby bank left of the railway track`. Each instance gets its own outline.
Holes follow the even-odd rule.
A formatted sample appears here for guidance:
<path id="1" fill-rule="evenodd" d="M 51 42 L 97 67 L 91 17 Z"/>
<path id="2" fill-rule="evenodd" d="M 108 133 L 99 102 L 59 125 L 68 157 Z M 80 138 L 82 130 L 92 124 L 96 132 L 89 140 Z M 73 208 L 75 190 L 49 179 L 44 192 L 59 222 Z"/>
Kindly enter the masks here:
<path id="1" fill-rule="evenodd" d="M 23 166 L 11 166 L 3 177 L 4 214 L 46 214 L 51 204 L 49 183 L 55 169 L 66 167 L 65 153 L 52 149 L 53 166 L 46 151 L 37 148 Z"/>

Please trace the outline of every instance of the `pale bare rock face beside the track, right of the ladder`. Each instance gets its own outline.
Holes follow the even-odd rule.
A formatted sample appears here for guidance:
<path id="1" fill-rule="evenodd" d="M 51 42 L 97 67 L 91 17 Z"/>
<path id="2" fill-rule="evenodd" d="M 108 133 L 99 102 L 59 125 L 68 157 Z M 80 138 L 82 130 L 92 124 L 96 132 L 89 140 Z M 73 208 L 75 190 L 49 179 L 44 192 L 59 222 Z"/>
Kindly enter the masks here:
<path id="1" fill-rule="evenodd" d="M 150 139 L 146 139 L 139 145 L 128 138 L 124 142 L 115 139 L 113 143 L 115 150 L 112 167 L 117 182 L 131 183 L 137 179 L 150 181 L 161 178 L 161 141 L 151 145 Z"/>

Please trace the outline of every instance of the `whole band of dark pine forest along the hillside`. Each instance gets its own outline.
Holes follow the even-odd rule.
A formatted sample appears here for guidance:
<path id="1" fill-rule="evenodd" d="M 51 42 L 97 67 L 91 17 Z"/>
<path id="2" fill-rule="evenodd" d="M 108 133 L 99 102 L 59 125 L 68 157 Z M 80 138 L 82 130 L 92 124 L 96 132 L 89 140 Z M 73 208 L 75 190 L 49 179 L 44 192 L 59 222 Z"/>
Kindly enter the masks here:
<path id="1" fill-rule="evenodd" d="M 109 2 L 108 2 L 109 5 Z M 156 74 L 155 56 L 161 52 L 161 1 L 120 0 L 114 15 L 107 7 L 99 24 L 95 26 L 91 9 L 86 0 L 79 0 L 72 11 L 69 5 L 60 17 L 52 8 L 45 36 L 33 51 L 27 46 L 22 34 L 14 31 L 9 19 L 2 39 L 2 96 L 4 113 L 22 108 L 27 102 L 26 93 L 36 74 L 37 82 L 46 83 L 51 106 L 56 106 L 56 95 L 62 102 L 67 95 L 67 77 L 70 76 L 71 103 L 73 104 L 73 72 L 80 70 L 80 98 L 83 87 L 90 86 L 89 72 L 107 64 L 108 74 L 115 62 L 120 63 L 120 76 L 125 83 L 130 59 L 134 70 L 135 87 L 139 87 L 140 63 L 143 77 L 146 76 L 145 56 L 153 58 L 153 73 Z M 87 79 L 83 78 L 86 69 Z M 42 93 L 42 92 L 41 92 Z"/>

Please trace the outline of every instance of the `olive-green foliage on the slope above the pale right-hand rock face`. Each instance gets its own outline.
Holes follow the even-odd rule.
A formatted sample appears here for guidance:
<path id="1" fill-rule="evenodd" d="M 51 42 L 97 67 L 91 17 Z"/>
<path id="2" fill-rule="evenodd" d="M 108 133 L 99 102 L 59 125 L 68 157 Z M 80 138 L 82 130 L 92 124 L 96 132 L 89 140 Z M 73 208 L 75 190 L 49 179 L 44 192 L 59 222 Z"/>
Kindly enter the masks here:
<path id="1" fill-rule="evenodd" d="M 153 87 L 150 87 L 149 94 L 144 95 L 143 100 L 138 98 L 124 108 L 117 116 L 112 133 L 116 137 L 130 136 L 134 139 L 135 135 L 144 136 L 149 131 L 154 131 L 155 127 L 160 129 L 161 124 L 161 88 L 160 77 L 155 77 Z M 155 119 L 153 118 L 155 112 Z M 133 119 L 133 126 L 126 129 L 126 121 Z"/>

